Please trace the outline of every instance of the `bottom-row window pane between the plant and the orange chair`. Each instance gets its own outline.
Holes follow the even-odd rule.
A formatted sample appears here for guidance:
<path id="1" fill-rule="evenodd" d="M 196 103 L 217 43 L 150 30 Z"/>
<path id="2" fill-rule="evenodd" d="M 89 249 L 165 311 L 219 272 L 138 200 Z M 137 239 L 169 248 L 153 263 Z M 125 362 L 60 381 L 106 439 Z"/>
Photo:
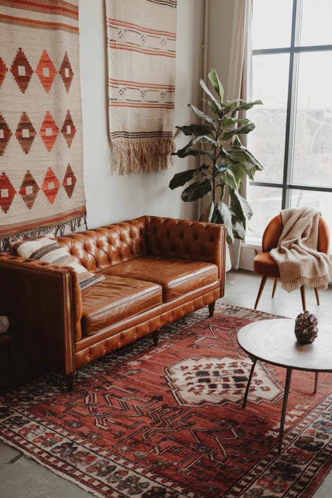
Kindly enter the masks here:
<path id="1" fill-rule="evenodd" d="M 248 202 L 253 211 L 247 235 L 262 237 L 266 225 L 281 210 L 282 189 L 273 187 L 249 186 Z"/>

